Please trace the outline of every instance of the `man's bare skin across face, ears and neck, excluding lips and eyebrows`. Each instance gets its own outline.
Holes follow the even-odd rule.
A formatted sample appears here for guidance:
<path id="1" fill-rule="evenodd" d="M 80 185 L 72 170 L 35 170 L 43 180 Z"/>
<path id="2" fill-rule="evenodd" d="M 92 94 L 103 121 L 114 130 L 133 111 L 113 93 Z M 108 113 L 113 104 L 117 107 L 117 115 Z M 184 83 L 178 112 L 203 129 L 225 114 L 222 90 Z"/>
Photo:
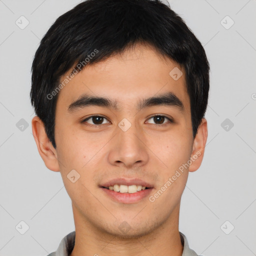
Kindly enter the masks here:
<path id="1" fill-rule="evenodd" d="M 169 75 L 174 67 L 183 72 L 178 80 Z M 169 91 L 182 101 L 183 113 L 170 106 L 136 110 L 138 99 Z M 68 112 L 68 105 L 85 92 L 115 99 L 120 109 L 89 106 Z M 97 114 L 106 118 L 101 126 L 90 127 L 82 122 Z M 161 121 L 165 125 L 157 123 L 149 118 L 154 114 L 172 117 L 174 123 L 166 118 Z M 131 123 L 125 132 L 118 127 L 123 118 Z M 95 122 L 90 118 L 87 124 Z M 56 149 L 37 116 L 32 119 L 32 131 L 45 165 L 60 171 L 72 201 L 76 237 L 71 256 L 182 254 L 178 232 L 180 199 L 188 172 L 201 164 L 207 122 L 202 119 L 193 139 L 184 70 L 177 63 L 149 45 L 136 44 L 121 55 L 87 65 L 58 94 Z M 200 152 L 197 159 L 154 202 L 146 197 L 136 203 L 119 203 L 98 186 L 115 177 L 137 177 L 153 184 L 153 195 L 196 152 Z M 80 174 L 74 183 L 67 178 L 72 169 Z M 126 233 L 118 228 L 123 221 L 130 226 Z"/>

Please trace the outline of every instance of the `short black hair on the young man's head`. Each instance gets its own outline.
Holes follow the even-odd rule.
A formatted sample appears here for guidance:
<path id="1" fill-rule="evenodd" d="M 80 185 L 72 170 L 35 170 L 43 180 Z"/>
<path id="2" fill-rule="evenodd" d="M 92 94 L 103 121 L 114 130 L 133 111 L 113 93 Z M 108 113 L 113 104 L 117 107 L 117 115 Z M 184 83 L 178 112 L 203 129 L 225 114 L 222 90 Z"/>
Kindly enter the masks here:
<path id="1" fill-rule="evenodd" d="M 157 0 L 86 0 L 56 19 L 32 62 L 31 104 L 54 148 L 60 76 L 78 63 L 84 64 L 77 72 L 139 42 L 153 46 L 184 68 L 195 137 L 207 107 L 209 63 L 182 18 Z"/>

